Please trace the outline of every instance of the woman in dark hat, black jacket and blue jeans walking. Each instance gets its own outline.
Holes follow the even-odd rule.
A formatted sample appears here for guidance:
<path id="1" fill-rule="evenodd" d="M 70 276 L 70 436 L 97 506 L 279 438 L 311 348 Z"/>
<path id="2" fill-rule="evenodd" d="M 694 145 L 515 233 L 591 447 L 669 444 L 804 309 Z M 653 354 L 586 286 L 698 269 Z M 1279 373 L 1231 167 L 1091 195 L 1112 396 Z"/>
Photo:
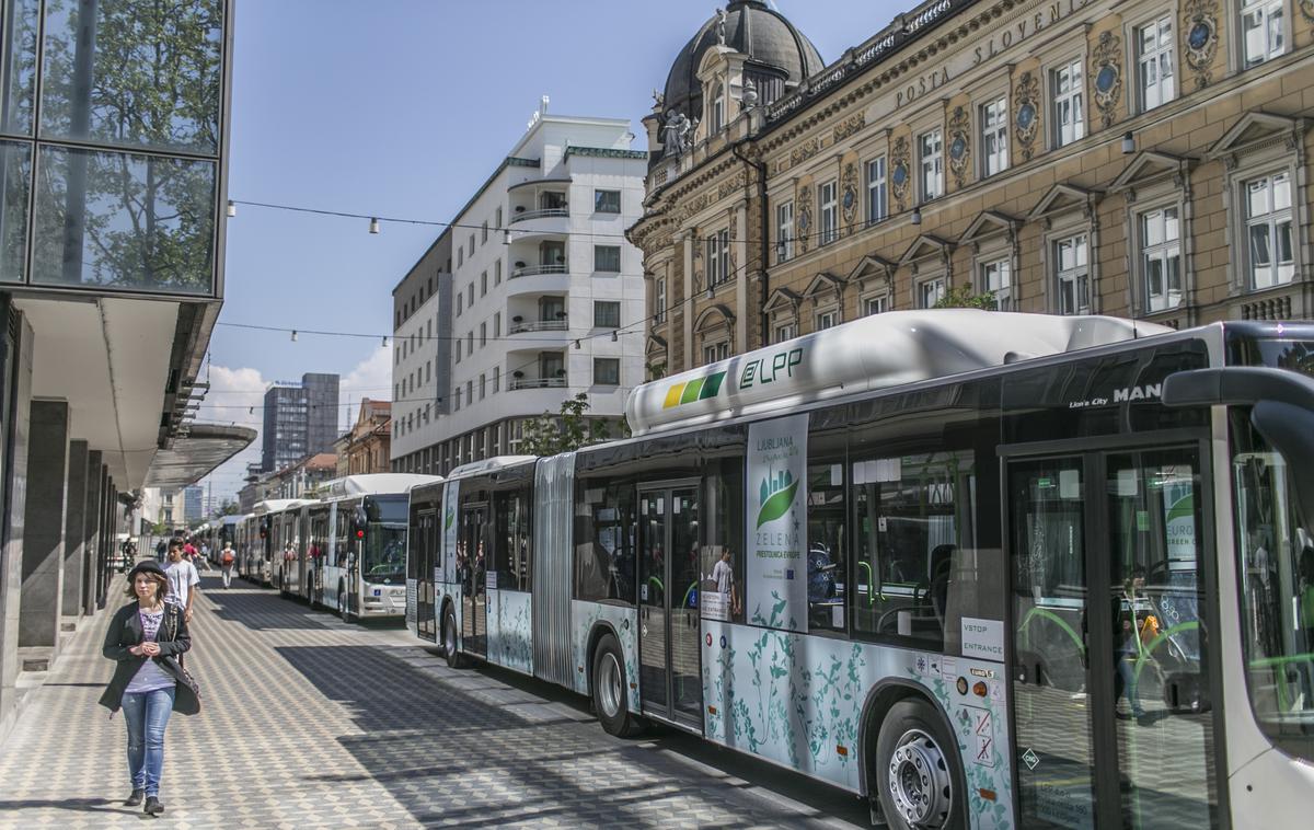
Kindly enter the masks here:
<path id="1" fill-rule="evenodd" d="M 170 713 L 196 714 L 201 703 L 177 657 L 192 647 L 187 617 L 167 604 L 168 578 L 158 562 L 138 562 L 127 574 L 129 603 L 114 613 L 101 653 L 117 662 L 100 705 L 124 709 L 127 722 L 127 774 L 133 793 L 125 806 L 145 798 L 145 813 L 159 816 L 160 774 L 164 767 L 164 728 Z"/>

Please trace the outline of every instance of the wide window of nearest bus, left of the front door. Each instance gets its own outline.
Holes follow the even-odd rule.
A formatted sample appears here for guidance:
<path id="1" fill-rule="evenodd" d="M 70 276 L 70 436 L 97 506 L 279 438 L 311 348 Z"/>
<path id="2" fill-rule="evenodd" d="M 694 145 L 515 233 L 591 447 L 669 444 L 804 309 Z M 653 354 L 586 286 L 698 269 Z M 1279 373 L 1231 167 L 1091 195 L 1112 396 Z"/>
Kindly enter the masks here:
<path id="1" fill-rule="evenodd" d="M 854 626 L 937 650 L 957 641 L 976 548 L 972 453 L 863 457 L 851 475 Z"/>

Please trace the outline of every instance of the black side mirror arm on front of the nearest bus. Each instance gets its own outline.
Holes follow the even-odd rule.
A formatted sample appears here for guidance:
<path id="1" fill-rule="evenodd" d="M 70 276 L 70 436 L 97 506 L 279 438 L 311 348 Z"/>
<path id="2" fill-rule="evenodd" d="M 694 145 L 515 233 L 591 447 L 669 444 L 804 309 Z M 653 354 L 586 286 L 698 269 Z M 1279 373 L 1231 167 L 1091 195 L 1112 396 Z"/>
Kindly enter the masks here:
<path id="1" fill-rule="evenodd" d="M 1169 374 L 1163 404 L 1250 406 L 1250 422 L 1286 458 L 1296 500 L 1314 524 L 1314 378 L 1290 369 L 1227 366 Z"/>

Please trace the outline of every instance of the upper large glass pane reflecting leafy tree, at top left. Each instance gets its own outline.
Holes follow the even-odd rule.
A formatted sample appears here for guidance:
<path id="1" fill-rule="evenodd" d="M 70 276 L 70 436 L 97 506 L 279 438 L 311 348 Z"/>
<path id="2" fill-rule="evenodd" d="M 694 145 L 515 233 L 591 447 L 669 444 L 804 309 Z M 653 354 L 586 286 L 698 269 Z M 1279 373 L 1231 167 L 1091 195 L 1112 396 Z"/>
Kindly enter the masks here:
<path id="1" fill-rule="evenodd" d="M 222 0 L 47 0 L 42 135 L 217 155 L 222 33 Z"/>

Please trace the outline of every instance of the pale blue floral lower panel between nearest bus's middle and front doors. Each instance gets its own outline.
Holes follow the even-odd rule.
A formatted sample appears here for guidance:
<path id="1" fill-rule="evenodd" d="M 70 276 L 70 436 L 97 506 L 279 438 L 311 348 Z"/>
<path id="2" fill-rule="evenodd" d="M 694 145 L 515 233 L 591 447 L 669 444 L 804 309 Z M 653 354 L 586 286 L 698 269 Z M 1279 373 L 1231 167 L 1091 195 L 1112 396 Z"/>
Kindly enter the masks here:
<path id="1" fill-rule="evenodd" d="M 958 738 L 972 826 L 1013 827 L 1009 759 L 1000 749 L 1008 739 L 1007 679 L 999 666 L 715 620 L 703 620 L 702 647 L 708 739 L 854 792 L 867 692 L 884 678 L 917 683 Z M 989 678 L 980 680 L 987 695 L 971 688 L 958 695 L 961 675 L 972 686 Z"/>

